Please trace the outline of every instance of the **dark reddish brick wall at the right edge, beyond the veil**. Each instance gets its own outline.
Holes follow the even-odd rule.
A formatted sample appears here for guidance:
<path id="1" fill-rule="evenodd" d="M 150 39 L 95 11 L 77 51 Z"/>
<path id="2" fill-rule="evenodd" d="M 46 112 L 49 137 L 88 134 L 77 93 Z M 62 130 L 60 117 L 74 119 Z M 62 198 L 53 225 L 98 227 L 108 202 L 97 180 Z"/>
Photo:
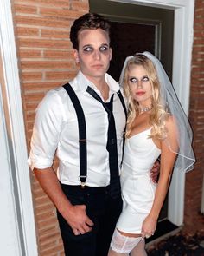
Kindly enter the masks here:
<path id="1" fill-rule="evenodd" d="M 194 153 L 197 162 L 186 178 L 184 232 L 204 233 L 201 215 L 201 189 L 204 174 L 204 1 L 195 0 L 194 46 L 191 71 L 189 119 L 194 130 Z"/>

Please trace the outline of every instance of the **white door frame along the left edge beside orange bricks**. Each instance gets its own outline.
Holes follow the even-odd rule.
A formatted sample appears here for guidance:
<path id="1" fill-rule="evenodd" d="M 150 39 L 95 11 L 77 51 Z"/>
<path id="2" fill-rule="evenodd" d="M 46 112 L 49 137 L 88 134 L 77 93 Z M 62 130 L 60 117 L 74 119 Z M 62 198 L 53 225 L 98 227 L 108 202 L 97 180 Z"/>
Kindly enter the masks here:
<path id="1" fill-rule="evenodd" d="M 4 106 L 1 104 L 0 110 L 3 118 L 5 117 L 6 120 L 6 128 L 5 126 L 2 128 L 1 137 L 3 136 L 3 141 L 5 141 L 3 154 L 4 157 L 7 158 L 7 161 L 1 161 L 1 165 L 3 165 L 4 172 L 10 172 L 10 174 L 3 174 L 2 171 L 1 175 L 3 175 L 3 179 L 7 179 L 9 182 L 8 187 L 3 187 L 3 194 L 7 193 L 7 189 L 10 187 L 10 196 L 12 196 L 10 207 L 8 207 L 8 209 L 11 209 L 12 207 L 15 209 L 14 213 L 11 213 L 10 210 L 8 215 L 4 214 L 3 220 L 5 223 L 10 223 L 12 219 L 15 223 L 13 225 L 13 233 L 18 234 L 15 243 L 16 253 L 9 253 L 9 246 L 8 251 L 5 253 L 8 256 L 37 256 L 35 218 L 30 187 L 29 167 L 27 164 L 28 154 L 22 115 L 21 87 L 18 75 L 16 43 L 10 0 L 0 1 L 0 49 L 4 79 Z M 2 158 L 2 156 L 3 155 L 1 154 L 0 158 Z M 10 171 L 11 168 L 12 172 Z M 14 183 L 14 181 L 16 181 L 16 183 Z M 4 208 L 5 206 L 2 207 Z M 5 230 L 1 228 L 0 233 L 2 235 L 5 233 Z M 5 247 L 8 244 L 9 243 L 5 243 L 3 246 Z"/>

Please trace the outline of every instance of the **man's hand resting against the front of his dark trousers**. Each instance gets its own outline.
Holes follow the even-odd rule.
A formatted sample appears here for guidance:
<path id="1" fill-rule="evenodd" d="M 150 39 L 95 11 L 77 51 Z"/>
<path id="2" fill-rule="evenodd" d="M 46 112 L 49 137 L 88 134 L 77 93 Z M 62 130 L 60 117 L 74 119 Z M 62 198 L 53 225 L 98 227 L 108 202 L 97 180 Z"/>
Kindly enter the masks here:
<path id="1" fill-rule="evenodd" d="M 84 234 L 92 230 L 93 222 L 86 215 L 85 205 L 69 207 L 67 216 L 64 216 L 64 218 L 72 227 L 75 235 Z"/>

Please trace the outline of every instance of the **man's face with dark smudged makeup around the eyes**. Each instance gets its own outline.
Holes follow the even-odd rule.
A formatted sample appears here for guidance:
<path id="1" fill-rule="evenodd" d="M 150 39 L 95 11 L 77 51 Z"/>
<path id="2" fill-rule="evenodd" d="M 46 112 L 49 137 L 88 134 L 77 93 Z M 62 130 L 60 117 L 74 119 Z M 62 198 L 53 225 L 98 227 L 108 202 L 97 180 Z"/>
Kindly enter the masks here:
<path id="1" fill-rule="evenodd" d="M 112 59 L 110 39 L 105 30 L 82 30 L 79 33 L 79 50 L 74 49 L 74 57 L 79 60 L 80 70 L 94 82 L 104 78 Z"/>

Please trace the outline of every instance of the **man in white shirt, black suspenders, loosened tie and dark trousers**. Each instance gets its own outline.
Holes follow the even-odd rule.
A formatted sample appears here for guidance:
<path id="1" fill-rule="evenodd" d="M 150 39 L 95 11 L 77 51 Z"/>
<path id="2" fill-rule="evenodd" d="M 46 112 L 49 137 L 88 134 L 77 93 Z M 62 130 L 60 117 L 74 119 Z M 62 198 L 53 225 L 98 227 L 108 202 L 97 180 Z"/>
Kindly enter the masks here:
<path id="1" fill-rule="evenodd" d="M 106 256 L 122 209 L 120 194 L 112 195 L 109 184 L 110 176 L 118 184 L 124 102 L 118 82 L 106 74 L 112 59 L 109 22 L 97 14 L 81 16 L 73 23 L 70 39 L 80 71 L 67 86 L 49 91 L 37 108 L 29 165 L 57 208 L 66 255 Z M 76 107 L 70 88 L 79 100 Z M 116 132 L 111 131 L 114 126 Z M 55 151 L 57 175 L 52 168 Z M 110 162 L 115 174 L 110 174 Z"/>

